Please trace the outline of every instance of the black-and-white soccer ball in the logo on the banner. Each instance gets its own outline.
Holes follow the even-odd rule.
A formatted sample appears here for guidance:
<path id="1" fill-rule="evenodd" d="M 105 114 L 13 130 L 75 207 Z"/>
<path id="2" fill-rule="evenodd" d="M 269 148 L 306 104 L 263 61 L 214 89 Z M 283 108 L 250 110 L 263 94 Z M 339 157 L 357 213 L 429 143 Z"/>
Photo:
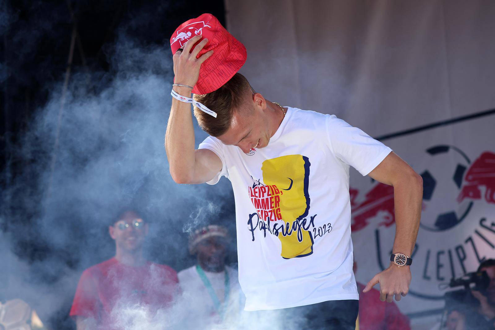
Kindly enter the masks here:
<path id="1" fill-rule="evenodd" d="M 469 213 L 473 202 L 457 203 L 464 175 L 471 161 L 452 145 L 435 145 L 426 150 L 421 171 L 423 178 L 422 229 L 441 232 L 453 228 Z"/>

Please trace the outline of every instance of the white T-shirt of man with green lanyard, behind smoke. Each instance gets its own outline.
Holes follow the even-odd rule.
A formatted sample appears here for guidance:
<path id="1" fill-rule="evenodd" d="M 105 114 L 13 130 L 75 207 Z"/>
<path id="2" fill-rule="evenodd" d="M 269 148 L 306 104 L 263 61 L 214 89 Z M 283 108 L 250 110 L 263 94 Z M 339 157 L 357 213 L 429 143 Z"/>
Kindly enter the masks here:
<path id="1" fill-rule="evenodd" d="M 232 267 L 225 267 L 229 275 L 229 296 L 225 313 L 225 320 L 221 320 L 215 309 L 213 299 L 208 289 L 199 277 L 196 265 L 186 268 L 177 274 L 183 297 L 187 302 L 188 309 L 195 311 L 195 317 L 210 324 L 234 325 L 240 318 L 246 298 L 239 286 L 239 274 Z M 222 304 L 225 299 L 225 272 L 213 273 L 204 271 L 206 278 L 215 291 Z M 206 326 L 206 325 L 205 325 Z"/>

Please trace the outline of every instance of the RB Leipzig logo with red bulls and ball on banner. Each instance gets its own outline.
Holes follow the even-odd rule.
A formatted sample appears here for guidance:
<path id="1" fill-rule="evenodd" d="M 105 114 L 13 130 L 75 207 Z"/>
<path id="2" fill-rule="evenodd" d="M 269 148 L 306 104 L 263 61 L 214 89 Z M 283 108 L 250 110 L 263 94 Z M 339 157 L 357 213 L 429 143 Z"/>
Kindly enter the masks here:
<path id="1" fill-rule="evenodd" d="M 411 256 L 422 276 L 415 281 L 416 287 L 411 284 L 410 292 L 441 299 L 439 283 L 472 271 L 467 269 L 468 261 L 477 265 L 485 260 L 483 249 L 495 248 L 495 222 L 488 213 L 479 216 L 479 210 L 474 212 L 476 200 L 495 206 L 495 153 L 485 151 L 471 162 L 455 146 L 434 145 L 426 149 L 423 166 L 415 168 L 423 178 L 423 205 L 420 234 Z M 352 232 L 374 229 L 377 262 L 383 270 L 392 252 L 392 246 L 383 241 L 396 220 L 394 187 L 376 183 L 360 202 L 358 189 L 350 188 L 349 195 Z M 470 256 L 476 260 L 468 260 Z"/>

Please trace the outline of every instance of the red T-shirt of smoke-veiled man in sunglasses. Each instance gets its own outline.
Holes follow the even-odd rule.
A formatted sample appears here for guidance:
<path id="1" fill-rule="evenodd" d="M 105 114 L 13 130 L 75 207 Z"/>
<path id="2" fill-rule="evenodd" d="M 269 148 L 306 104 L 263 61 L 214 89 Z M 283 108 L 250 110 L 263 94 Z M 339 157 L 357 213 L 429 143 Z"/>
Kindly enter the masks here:
<path id="1" fill-rule="evenodd" d="M 140 304 L 152 311 L 167 307 L 178 282 L 177 272 L 168 266 L 147 261 L 132 267 L 111 258 L 83 272 L 70 316 L 91 317 L 101 329 L 115 329 L 116 322 L 110 318 L 114 307 Z"/>

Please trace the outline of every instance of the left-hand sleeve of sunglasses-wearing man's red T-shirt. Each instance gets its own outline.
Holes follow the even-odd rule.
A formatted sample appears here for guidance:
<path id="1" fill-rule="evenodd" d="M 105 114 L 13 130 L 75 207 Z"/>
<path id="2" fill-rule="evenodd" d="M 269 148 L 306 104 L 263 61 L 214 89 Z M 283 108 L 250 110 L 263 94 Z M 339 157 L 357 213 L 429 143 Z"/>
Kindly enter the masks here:
<path id="1" fill-rule="evenodd" d="M 69 315 L 99 318 L 100 301 L 95 278 L 89 270 L 85 270 L 77 284 L 76 294 Z"/>

